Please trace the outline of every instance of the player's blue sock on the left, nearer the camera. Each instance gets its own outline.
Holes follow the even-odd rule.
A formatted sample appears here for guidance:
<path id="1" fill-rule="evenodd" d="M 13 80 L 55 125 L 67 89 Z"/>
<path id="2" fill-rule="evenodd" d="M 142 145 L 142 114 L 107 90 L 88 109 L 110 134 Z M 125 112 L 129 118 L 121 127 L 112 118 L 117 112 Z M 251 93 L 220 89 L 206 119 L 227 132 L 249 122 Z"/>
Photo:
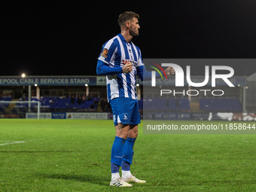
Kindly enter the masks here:
<path id="1" fill-rule="evenodd" d="M 113 143 L 112 150 L 111 150 L 111 163 L 114 163 L 117 166 L 122 166 L 123 145 L 125 142 L 126 142 L 125 139 L 117 137 L 117 136 L 114 139 L 114 143 Z M 116 169 L 116 168 L 114 168 L 114 169 Z M 112 172 L 112 170 L 111 170 L 111 172 Z"/>

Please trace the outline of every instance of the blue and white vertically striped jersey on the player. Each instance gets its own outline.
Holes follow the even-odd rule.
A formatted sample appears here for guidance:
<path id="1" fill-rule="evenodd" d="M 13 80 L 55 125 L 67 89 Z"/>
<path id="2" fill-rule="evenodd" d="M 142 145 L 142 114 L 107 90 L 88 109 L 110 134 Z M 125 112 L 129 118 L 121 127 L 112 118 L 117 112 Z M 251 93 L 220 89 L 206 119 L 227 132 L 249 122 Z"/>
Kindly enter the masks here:
<path id="1" fill-rule="evenodd" d="M 123 35 L 118 34 L 103 44 L 102 52 L 98 59 L 104 62 L 105 66 L 113 68 L 111 73 L 108 72 L 106 76 L 108 102 L 116 97 L 137 99 L 136 72 L 139 66 L 143 66 L 142 53 L 139 47 L 136 47 L 133 42 L 128 44 Z M 123 73 L 121 67 L 127 62 L 133 63 L 133 71 Z M 142 69 L 142 67 L 139 69 Z"/>

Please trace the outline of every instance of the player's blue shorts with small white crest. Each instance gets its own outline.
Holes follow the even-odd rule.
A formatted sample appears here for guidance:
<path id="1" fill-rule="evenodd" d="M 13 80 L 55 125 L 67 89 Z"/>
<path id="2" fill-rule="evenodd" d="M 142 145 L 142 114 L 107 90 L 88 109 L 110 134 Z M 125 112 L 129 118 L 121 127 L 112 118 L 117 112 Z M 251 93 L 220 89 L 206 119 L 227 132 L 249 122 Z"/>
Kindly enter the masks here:
<path id="1" fill-rule="evenodd" d="M 136 99 L 117 97 L 110 101 L 113 111 L 114 126 L 117 123 L 123 125 L 136 125 L 141 123 L 139 117 L 139 102 Z"/>

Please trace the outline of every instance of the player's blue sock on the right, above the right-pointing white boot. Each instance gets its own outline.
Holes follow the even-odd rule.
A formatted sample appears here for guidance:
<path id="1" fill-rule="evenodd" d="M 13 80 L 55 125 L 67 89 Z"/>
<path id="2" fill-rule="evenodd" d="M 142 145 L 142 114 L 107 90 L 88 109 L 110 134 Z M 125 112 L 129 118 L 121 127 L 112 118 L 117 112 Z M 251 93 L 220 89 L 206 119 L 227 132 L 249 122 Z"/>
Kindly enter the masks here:
<path id="1" fill-rule="evenodd" d="M 133 145 L 135 141 L 136 141 L 136 138 L 133 139 L 128 137 L 123 146 L 123 161 L 125 161 L 126 163 L 122 163 L 122 164 L 125 167 L 130 166 L 133 163 L 133 154 L 134 154 Z M 127 163 L 129 163 L 129 165 Z M 122 170 L 123 170 L 123 166 L 122 166 Z M 124 169 L 127 169 L 127 168 L 124 168 Z"/>

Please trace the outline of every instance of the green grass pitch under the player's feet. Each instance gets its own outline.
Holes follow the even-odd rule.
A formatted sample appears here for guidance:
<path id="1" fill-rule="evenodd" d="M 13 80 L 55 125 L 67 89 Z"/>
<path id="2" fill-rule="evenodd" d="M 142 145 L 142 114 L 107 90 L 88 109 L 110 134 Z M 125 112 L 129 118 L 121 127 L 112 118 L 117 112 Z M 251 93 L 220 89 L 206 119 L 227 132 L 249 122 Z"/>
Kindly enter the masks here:
<path id="1" fill-rule="evenodd" d="M 118 188 L 109 186 L 112 120 L 2 119 L 0 191 L 256 190 L 256 135 L 142 132 L 131 171 L 147 183 Z"/>

